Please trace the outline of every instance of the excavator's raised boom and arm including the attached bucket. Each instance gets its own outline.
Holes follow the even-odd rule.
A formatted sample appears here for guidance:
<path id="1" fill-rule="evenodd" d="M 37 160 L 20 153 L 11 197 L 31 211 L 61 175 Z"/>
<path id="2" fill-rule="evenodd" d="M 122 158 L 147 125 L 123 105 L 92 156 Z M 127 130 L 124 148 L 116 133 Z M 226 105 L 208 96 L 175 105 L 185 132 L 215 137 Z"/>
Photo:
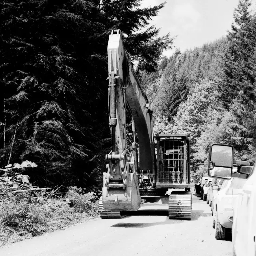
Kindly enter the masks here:
<path id="1" fill-rule="evenodd" d="M 143 201 L 140 197 L 138 173 L 152 173 L 156 184 L 156 155 L 153 140 L 152 111 L 131 60 L 125 52 L 120 30 L 112 30 L 108 42 L 109 126 L 112 150 L 106 155 L 107 173 L 103 176 L 102 205 L 104 210 L 136 211 Z M 133 119 L 134 163 L 127 162 L 126 110 Z M 140 146 L 138 166 L 135 129 Z M 143 178 L 142 178 L 143 179 Z"/>

